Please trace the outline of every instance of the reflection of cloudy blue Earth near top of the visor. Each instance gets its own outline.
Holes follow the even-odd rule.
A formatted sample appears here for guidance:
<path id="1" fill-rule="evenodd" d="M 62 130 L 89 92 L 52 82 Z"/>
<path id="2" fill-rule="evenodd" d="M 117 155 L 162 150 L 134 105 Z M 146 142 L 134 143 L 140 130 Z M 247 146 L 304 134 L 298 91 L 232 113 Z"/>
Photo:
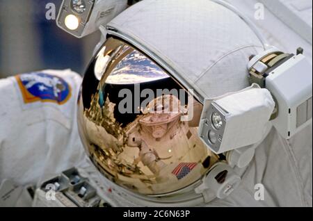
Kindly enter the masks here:
<path id="1" fill-rule="evenodd" d="M 106 79 L 106 83 L 111 84 L 132 84 L 157 81 L 168 78 L 160 67 L 138 51 L 121 60 L 113 69 L 113 72 Z"/>

